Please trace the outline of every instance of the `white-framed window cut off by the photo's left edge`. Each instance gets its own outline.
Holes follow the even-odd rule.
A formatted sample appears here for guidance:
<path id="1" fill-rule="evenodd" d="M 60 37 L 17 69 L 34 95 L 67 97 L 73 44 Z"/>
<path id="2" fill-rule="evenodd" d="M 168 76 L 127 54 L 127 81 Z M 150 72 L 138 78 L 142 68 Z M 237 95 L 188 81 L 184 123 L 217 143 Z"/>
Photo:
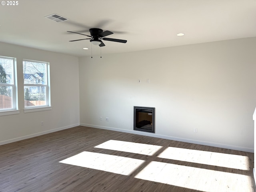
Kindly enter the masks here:
<path id="1" fill-rule="evenodd" d="M 0 115 L 18 110 L 16 84 L 16 59 L 0 56 Z"/>

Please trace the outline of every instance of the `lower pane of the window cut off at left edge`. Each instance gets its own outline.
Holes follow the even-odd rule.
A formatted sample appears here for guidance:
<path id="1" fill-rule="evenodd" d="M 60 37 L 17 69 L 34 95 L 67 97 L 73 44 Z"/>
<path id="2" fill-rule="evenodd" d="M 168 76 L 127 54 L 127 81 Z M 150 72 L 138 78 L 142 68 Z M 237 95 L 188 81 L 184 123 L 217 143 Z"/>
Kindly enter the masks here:
<path id="1" fill-rule="evenodd" d="M 13 108 L 12 86 L 0 86 L 0 110 Z"/>

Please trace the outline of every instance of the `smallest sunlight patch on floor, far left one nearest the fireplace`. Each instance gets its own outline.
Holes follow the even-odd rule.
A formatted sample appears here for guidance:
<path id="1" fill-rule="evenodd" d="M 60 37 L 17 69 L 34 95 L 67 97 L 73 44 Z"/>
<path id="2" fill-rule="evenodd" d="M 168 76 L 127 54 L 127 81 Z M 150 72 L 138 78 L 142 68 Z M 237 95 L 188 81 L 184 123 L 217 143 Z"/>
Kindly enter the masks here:
<path id="1" fill-rule="evenodd" d="M 118 141 L 118 140 L 108 140 L 98 146 L 96 148 L 102 149 L 110 149 L 116 151 L 137 153 L 142 155 L 153 155 L 157 152 L 162 146 L 150 145 L 144 143 L 134 143 L 127 141 Z"/>

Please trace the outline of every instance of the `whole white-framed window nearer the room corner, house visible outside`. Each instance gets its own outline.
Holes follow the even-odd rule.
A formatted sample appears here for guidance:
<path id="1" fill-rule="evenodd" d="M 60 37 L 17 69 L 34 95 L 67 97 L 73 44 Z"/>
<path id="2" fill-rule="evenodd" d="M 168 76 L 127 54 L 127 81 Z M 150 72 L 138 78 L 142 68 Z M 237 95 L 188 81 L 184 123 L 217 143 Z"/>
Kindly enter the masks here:
<path id="1" fill-rule="evenodd" d="M 23 60 L 23 77 L 25 110 L 50 107 L 49 63 Z"/>

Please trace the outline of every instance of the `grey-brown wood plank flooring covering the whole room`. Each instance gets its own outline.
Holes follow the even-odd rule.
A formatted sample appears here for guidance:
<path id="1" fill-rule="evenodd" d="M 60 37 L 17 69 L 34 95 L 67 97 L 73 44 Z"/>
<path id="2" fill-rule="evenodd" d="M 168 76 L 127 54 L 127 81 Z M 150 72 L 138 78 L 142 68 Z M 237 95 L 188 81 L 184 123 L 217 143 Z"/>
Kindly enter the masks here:
<path id="1" fill-rule="evenodd" d="M 110 140 L 161 148 L 139 154 L 127 143 L 124 151 L 108 149 Z M 60 163 L 82 152 L 143 163 L 129 175 Z M 78 126 L 0 146 L 0 192 L 254 192 L 253 163 L 249 152 Z"/>

